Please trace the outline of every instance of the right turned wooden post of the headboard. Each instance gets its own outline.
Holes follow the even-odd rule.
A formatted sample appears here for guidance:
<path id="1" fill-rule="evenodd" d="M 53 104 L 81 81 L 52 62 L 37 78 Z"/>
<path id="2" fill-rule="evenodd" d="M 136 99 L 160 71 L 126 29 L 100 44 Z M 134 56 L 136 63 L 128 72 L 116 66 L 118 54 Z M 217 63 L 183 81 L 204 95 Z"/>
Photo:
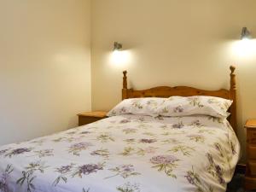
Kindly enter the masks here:
<path id="1" fill-rule="evenodd" d="M 230 108 L 230 124 L 232 125 L 234 131 L 237 131 L 237 121 L 236 121 L 236 67 L 230 66 L 230 99 L 233 100 L 233 103 Z"/>

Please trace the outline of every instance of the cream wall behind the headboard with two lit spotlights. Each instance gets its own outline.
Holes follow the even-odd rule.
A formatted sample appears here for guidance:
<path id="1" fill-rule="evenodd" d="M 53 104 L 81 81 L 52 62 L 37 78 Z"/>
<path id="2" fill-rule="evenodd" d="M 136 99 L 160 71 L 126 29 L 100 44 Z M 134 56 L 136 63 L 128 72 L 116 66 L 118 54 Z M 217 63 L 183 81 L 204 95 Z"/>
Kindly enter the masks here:
<path id="1" fill-rule="evenodd" d="M 239 38 L 242 26 L 256 38 L 255 9 L 255 0 L 93 0 L 92 108 L 108 110 L 121 101 L 124 69 L 137 89 L 216 90 L 229 87 L 228 67 L 236 64 L 244 150 L 242 125 L 256 117 L 256 43 L 243 47 Z M 114 41 L 125 48 L 119 64 L 111 58 Z"/>

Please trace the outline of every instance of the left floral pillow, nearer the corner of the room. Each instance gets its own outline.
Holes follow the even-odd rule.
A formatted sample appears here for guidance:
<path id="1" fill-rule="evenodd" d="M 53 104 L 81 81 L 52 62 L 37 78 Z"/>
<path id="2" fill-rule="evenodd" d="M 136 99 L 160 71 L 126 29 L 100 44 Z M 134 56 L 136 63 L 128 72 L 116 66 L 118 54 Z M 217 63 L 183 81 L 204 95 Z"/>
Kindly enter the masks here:
<path id="1" fill-rule="evenodd" d="M 159 97 L 143 97 L 143 98 L 131 98 L 125 99 L 119 102 L 117 106 L 111 109 L 107 116 L 116 116 L 119 114 L 138 114 L 149 115 L 156 117 L 159 114 L 156 113 L 156 109 L 160 107 L 160 104 L 165 102 L 166 98 Z"/>

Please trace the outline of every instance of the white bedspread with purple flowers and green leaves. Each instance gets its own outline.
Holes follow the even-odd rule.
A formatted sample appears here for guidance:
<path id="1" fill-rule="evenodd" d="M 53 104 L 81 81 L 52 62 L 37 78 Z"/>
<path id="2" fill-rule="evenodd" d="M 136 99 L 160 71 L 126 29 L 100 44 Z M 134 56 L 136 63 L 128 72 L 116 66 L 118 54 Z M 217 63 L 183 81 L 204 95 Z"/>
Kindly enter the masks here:
<path id="1" fill-rule="evenodd" d="M 114 116 L 0 147 L 0 191 L 224 192 L 239 154 L 225 119 Z"/>

